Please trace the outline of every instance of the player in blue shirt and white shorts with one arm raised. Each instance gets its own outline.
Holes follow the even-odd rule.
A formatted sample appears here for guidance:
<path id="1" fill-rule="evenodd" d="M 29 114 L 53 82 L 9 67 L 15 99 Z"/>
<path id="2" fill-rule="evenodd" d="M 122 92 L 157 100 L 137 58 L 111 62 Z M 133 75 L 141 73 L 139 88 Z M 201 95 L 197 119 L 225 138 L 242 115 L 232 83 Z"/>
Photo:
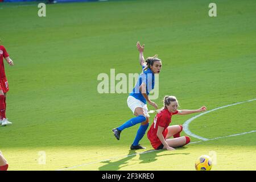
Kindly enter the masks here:
<path id="1" fill-rule="evenodd" d="M 139 144 L 139 141 L 143 138 L 149 125 L 148 118 L 150 116 L 148 115 L 147 102 L 151 106 L 155 107 L 155 109 L 158 109 L 158 106 L 155 104 L 155 102 L 152 102 L 148 98 L 148 94 L 152 89 L 154 89 L 155 74 L 160 73 L 160 70 L 162 68 L 162 61 L 157 58 L 157 55 L 155 55 L 154 57 L 148 57 L 145 61 L 143 56 L 144 45 L 141 46 L 141 44 L 137 42 L 137 48 L 139 51 L 139 60 L 142 66 L 142 73 L 141 75 L 139 75 L 133 91 L 127 98 L 127 105 L 129 106 L 131 111 L 133 111 L 133 114 L 136 117 L 131 118 L 130 120 L 123 123 L 123 125 L 112 130 L 115 138 L 119 140 L 121 131 L 127 129 L 128 127 L 141 123 L 134 142 L 133 144 L 131 144 L 131 150 L 145 148 Z"/>

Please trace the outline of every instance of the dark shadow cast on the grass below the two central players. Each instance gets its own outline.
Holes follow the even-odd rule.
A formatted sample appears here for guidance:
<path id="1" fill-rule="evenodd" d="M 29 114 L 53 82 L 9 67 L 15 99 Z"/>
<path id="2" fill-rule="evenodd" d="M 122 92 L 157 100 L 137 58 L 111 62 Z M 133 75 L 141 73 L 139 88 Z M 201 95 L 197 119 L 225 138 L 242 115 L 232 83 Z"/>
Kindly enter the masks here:
<path id="1" fill-rule="evenodd" d="M 179 150 L 184 150 L 186 147 L 179 147 L 176 148 L 176 151 Z M 130 163 L 131 159 L 135 158 L 135 156 L 139 155 L 139 160 L 141 160 L 141 162 L 139 162 L 140 164 L 143 163 L 151 163 L 151 162 L 155 162 L 157 160 L 156 157 L 158 156 L 168 156 L 168 155 L 188 155 L 190 153 L 172 153 L 172 151 L 170 151 L 170 154 L 163 154 L 163 155 L 158 155 L 160 152 L 164 152 L 166 150 L 148 150 L 148 151 L 144 151 L 144 152 L 136 152 L 134 150 L 130 150 L 129 153 L 126 156 L 123 156 L 122 159 L 117 160 L 115 162 L 112 162 L 112 160 L 108 160 L 102 163 L 105 163 L 104 166 L 101 166 L 98 168 L 98 170 L 100 171 L 117 171 L 123 167 L 126 166 L 131 166 L 133 164 Z M 139 169 L 134 169 L 134 170 L 139 170 Z M 142 170 L 142 169 L 140 169 Z"/>

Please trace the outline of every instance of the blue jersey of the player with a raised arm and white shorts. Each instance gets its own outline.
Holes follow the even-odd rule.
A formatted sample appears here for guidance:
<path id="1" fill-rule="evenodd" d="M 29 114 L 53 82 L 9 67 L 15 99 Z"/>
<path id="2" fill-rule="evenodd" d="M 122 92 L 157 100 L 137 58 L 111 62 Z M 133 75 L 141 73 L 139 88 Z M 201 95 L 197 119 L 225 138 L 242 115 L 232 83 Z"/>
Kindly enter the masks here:
<path id="1" fill-rule="evenodd" d="M 155 76 L 154 73 L 151 71 L 151 69 L 147 69 L 146 71 L 143 71 L 143 68 L 145 66 L 142 66 L 142 73 L 139 75 L 139 78 L 137 80 L 136 85 L 133 88 L 133 91 L 130 93 L 130 96 L 133 96 L 134 98 L 142 101 L 144 104 L 147 103 L 146 99 L 143 97 L 141 91 L 139 90 L 139 86 L 141 86 L 142 82 L 146 84 L 146 93 L 147 96 L 150 93 L 152 89 L 154 89 L 155 86 Z"/>

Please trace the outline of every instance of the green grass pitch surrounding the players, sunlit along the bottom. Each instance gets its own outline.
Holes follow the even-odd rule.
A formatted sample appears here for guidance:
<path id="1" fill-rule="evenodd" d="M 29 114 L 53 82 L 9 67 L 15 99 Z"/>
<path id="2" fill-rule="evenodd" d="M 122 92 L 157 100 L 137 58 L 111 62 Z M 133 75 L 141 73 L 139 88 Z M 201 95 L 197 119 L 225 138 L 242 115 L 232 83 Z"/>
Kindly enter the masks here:
<path id="1" fill-rule="evenodd" d="M 208 110 L 256 98 L 256 2 L 214 1 L 217 17 L 209 17 L 210 2 L 62 3 L 47 5 L 42 18 L 35 2 L 0 3 L 0 37 L 15 64 L 5 65 L 13 125 L 0 127 L 9 169 L 195 170 L 200 155 L 215 154 L 212 170 L 256 170 L 255 132 L 175 151 L 152 151 L 145 136 L 140 143 L 147 148 L 130 151 L 138 126 L 119 141 L 112 133 L 133 117 L 128 93 L 97 92 L 100 73 L 141 72 L 140 41 L 145 57 L 163 60 L 159 106 L 165 95 L 176 96 L 180 109 Z M 205 114 L 189 129 L 209 139 L 256 130 L 255 104 Z M 175 115 L 171 125 L 195 115 Z"/>

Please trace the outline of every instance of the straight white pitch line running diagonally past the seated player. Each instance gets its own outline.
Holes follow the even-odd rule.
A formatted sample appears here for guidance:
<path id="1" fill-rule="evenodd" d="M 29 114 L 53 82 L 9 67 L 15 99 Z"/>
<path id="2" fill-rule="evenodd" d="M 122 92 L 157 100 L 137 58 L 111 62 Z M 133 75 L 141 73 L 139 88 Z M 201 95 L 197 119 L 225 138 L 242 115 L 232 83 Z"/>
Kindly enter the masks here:
<path id="1" fill-rule="evenodd" d="M 221 138 L 234 137 L 234 136 L 245 135 L 245 134 L 254 133 L 254 132 L 256 132 L 256 130 L 249 131 L 249 132 L 245 132 L 245 133 L 238 133 L 238 134 L 228 135 L 228 136 L 224 136 L 224 137 L 216 137 L 216 138 L 212 138 L 212 139 L 208 139 L 208 140 L 200 140 L 200 141 L 191 142 L 191 143 L 188 143 L 188 144 L 200 143 L 200 142 L 205 142 L 205 141 L 209 141 L 209 140 L 217 140 L 217 139 L 221 139 Z M 163 150 L 163 149 L 162 149 L 162 150 Z M 102 163 L 102 162 L 106 162 L 106 161 L 110 161 L 110 160 L 114 160 L 114 159 L 119 159 L 119 158 L 128 158 L 128 157 L 130 157 L 130 156 L 135 156 L 135 155 L 148 154 L 148 153 L 155 152 L 155 151 L 159 151 L 159 150 L 149 150 L 149 151 L 144 151 L 144 152 L 136 153 L 136 154 L 117 156 L 117 157 L 114 157 L 114 158 L 109 158 L 109 159 L 104 159 L 104 160 L 98 160 L 98 161 L 90 162 L 90 163 L 84 163 L 84 164 L 80 164 L 80 165 L 73 166 L 73 167 L 57 169 L 56 171 L 64 171 L 64 170 L 68 170 L 68 169 L 75 169 L 75 168 L 78 168 L 78 167 L 89 166 L 90 164 Z"/>

